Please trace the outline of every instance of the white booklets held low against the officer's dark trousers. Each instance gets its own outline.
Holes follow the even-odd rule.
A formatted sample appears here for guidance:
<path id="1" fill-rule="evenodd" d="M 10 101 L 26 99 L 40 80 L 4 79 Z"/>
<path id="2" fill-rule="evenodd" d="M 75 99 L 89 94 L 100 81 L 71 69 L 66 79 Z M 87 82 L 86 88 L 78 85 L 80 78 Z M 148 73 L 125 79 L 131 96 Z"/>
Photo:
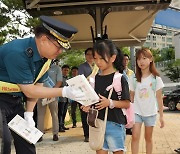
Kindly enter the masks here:
<path id="1" fill-rule="evenodd" d="M 43 133 L 36 127 L 30 126 L 21 116 L 16 115 L 9 123 L 9 128 L 29 143 L 36 144 Z"/>

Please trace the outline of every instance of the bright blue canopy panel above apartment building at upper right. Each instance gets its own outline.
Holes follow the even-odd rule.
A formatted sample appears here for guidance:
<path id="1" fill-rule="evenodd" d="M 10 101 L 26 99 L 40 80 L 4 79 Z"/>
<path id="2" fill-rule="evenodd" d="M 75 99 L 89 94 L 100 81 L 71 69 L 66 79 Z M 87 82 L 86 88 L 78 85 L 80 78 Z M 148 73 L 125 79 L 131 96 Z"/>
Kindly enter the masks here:
<path id="1" fill-rule="evenodd" d="M 155 24 L 180 29 L 180 9 L 168 8 L 159 11 L 155 17 Z"/>

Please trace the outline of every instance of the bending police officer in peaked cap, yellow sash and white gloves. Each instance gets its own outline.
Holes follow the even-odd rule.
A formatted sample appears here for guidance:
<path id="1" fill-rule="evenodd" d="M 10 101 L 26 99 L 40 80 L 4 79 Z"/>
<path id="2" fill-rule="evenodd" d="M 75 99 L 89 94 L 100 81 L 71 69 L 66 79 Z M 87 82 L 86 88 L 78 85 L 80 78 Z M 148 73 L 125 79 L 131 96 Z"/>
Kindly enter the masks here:
<path id="1" fill-rule="evenodd" d="M 11 153 L 11 134 L 17 154 L 35 154 L 35 146 L 13 131 L 7 123 L 17 114 L 34 126 L 33 108 L 38 98 L 67 97 L 83 100 L 70 87 L 47 88 L 43 82 L 48 77 L 50 59 L 55 59 L 64 49 L 77 29 L 47 16 L 41 16 L 42 25 L 35 28 L 35 37 L 16 39 L 0 47 L 0 136 L 1 153 Z M 48 59 L 48 60 L 47 60 Z M 48 63 L 49 62 L 49 63 Z M 43 69 L 41 70 L 41 68 Z M 26 101 L 24 112 L 23 102 Z"/>

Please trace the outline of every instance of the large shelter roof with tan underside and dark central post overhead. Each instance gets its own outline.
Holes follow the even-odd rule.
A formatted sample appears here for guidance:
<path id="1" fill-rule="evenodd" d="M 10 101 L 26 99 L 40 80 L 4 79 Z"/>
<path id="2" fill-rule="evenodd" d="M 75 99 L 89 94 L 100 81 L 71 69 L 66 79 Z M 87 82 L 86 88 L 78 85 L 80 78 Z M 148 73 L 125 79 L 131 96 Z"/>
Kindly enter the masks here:
<path id="1" fill-rule="evenodd" d="M 30 15 L 54 16 L 79 32 L 71 45 L 92 46 L 94 38 L 107 34 L 118 46 L 142 45 L 156 13 L 171 0 L 24 0 Z"/>

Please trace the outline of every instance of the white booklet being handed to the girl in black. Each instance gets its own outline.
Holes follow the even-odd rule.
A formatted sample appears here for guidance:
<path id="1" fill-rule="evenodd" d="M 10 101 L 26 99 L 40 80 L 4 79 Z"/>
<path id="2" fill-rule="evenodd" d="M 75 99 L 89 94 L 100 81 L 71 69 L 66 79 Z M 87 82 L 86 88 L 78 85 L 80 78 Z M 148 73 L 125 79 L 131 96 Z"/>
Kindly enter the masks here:
<path id="1" fill-rule="evenodd" d="M 84 75 L 75 76 L 66 82 L 77 92 L 84 93 L 86 97 L 85 101 L 79 101 L 82 105 L 89 106 L 99 102 L 99 96 L 96 94 Z"/>

